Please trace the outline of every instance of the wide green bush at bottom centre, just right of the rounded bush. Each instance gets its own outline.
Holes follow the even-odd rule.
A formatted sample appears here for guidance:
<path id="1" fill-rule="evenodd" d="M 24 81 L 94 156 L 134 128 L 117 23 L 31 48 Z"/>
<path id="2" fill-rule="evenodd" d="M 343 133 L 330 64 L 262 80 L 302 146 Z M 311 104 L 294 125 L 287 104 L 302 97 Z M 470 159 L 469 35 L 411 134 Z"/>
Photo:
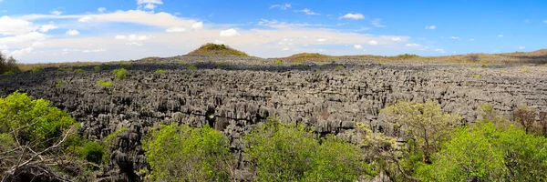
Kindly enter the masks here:
<path id="1" fill-rule="evenodd" d="M 358 147 L 335 136 L 320 142 L 302 125 L 268 118 L 243 139 L 258 181 L 355 181 L 371 174 Z"/>

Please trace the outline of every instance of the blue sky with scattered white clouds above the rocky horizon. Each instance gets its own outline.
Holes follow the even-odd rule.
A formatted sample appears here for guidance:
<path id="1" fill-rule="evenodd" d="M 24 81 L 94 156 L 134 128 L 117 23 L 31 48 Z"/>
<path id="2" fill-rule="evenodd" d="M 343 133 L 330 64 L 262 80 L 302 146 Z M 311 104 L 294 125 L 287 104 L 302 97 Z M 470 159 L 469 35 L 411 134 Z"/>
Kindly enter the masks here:
<path id="1" fill-rule="evenodd" d="M 546 48 L 547 1 L 0 0 L 0 51 L 23 63 L 178 56 L 446 56 Z"/>

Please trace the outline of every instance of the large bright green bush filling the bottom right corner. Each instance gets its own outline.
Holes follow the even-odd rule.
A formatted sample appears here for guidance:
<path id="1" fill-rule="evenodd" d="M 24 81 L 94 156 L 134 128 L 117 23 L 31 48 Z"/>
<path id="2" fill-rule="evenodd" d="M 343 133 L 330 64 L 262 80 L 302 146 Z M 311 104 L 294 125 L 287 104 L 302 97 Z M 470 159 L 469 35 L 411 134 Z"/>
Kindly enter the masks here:
<path id="1" fill-rule="evenodd" d="M 425 181 L 545 181 L 547 138 L 491 122 L 463 126 L 422 166 Z"/>

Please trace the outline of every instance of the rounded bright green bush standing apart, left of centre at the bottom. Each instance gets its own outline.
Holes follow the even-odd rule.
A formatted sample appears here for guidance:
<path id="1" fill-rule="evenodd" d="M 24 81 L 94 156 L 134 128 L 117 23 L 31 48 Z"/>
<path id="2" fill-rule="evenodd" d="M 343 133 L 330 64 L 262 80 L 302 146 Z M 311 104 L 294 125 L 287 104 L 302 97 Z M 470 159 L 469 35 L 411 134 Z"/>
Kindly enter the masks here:
<path id="1" fill-rule="evenodd" d="M 229 141 L 211 127 L 161 126 L 142 140 L 151 181 L 228 181 Z"/>

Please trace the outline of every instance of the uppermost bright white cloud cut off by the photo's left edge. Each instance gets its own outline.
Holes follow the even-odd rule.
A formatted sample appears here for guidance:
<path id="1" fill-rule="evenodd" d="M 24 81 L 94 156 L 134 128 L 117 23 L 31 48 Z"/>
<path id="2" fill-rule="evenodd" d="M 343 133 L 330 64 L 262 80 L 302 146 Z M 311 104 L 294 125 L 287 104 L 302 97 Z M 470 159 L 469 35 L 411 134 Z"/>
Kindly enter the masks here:
<path id="1" fill-rule="evenodd" d="M 0 17 L 0 35 L 22 35 L 36 30 L 36 25 L 23 19 Z"/>

